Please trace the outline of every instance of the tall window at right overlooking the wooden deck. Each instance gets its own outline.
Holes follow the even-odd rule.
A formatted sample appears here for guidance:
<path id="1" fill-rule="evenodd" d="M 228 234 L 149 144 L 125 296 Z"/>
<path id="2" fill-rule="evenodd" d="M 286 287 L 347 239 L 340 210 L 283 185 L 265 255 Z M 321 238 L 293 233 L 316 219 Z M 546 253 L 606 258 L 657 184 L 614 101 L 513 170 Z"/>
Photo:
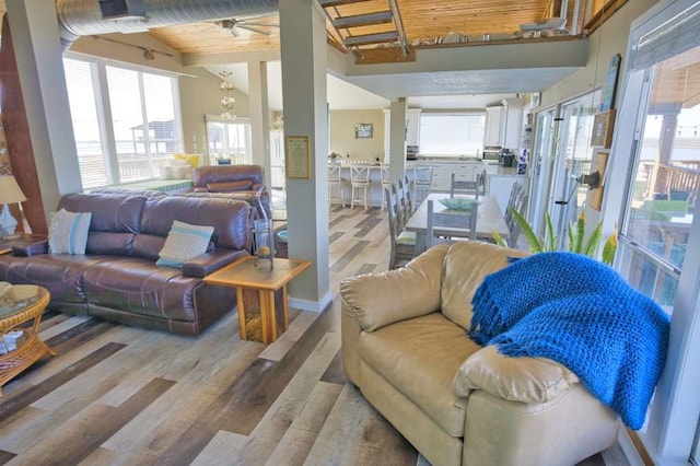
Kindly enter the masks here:
<path id="1" fill-rule="evenodd" d="M 670 315 L 668 358 L 640 440 L 654 464 L 680 464 L 689 457 L 695 464 L 700 415 L 700 222 L 695 218 L 700 3 L 661 2 L 635 23 L 611 150 L 614 165 L 615 158 L 627 163 L 628 180 L 625 189 L 606 186 L 619 191 L 622 205 L 616 268 Z"/>

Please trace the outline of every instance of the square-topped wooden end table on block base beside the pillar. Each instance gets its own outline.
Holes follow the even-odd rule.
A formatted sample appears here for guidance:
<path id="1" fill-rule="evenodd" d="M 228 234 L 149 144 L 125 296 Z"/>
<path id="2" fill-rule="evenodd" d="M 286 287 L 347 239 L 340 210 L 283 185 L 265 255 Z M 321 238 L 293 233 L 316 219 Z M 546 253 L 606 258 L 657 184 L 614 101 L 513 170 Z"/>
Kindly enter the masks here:
<path id="1" fill-rule="evenodd" d="M 287 283 L 311 261 L 273 260 L 272 268 L 256 267 L 255 257 L 244 257 L 203 279 L 209 284 L 236 289 L 241 339 L 271 343 L 289 327 Z"/>

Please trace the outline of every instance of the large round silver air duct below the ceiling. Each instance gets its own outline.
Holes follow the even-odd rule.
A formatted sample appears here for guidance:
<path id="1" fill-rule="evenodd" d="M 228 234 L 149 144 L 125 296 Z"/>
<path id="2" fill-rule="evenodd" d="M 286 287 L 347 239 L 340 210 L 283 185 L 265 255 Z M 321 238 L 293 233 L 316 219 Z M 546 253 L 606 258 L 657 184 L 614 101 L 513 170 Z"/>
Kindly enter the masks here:
<path id="1" fill-rule="evenodd" d="M 57 0 L 56 11 L 67 50 L 81 36 L 273 14 L 279 0 Z M 105 18 L 107 11 L 119 14 Z"/>

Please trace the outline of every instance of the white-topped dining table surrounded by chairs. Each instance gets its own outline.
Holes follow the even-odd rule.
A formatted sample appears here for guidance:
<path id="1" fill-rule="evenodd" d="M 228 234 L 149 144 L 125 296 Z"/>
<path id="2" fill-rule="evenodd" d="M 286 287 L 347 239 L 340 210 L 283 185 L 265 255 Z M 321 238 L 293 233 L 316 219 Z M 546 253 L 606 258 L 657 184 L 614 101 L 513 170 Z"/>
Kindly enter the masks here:
<path id="1" fill-rule="evenodd" d="M 416 232 L 416 254 L 425 251 L 425 231 L 428 230 L 428 201 L 433 201 L 433 211 L 442 213 L 452 213 L 458 215 L 463 211 L 448 209 L 440 202 L 440 199 L 450 198 L 447 193 L 431 193 L 416 209 L 413 214 L 408 219 L 404 230 Z M 471 195 L 455 196 L 455 198 L 476 199 Z M 504 240 L 509 236 L 508 225 L 498 200 L 492 196 L 479 196 L 479 207 L 477 208 L 477 240 L 493 242 L 493 232 L 495 231 Z M 468 237 L 467 230 L 459 229 L 441 229 L 435 233 L 450 237 Z"/>

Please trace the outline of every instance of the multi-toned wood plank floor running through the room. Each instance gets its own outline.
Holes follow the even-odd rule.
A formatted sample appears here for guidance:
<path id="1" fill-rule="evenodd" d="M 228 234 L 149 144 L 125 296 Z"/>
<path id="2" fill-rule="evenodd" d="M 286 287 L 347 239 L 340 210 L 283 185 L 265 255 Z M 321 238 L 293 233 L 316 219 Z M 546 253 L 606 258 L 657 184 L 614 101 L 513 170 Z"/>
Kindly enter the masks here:
<path id="1" fill-rule="evenodd" d="M 334 206 L 329 235 L 332 305 L 292 311 L 267 347 L 238 338 L 235 314 L 178 337 L 46 313 L 40 336 L 58 356 L 3 387 L 0 464 L 416 465 L 339 353 L 338 286 L 386 269 L 385 212 Z M 611 448 L 582 464 L 626 462 Z"/>

